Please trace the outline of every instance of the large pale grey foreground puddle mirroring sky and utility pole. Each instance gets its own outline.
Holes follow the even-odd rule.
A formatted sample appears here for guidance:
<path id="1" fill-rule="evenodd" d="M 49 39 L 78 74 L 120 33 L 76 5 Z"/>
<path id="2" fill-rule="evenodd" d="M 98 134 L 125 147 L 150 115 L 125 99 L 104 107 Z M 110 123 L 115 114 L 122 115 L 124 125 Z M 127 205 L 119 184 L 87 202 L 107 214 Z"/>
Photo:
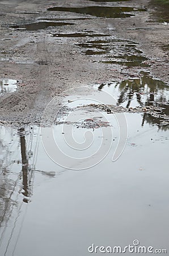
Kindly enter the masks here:
<path id="1" fill-rule="evenodd" d="M 84 171 L 65 170 L 52 162 L 39 127 L 0 126 L 1 255 L 35 255 L 35 248 L 36 255 L 87 255 L 93 241 L 99 246 L 126 246 L 133 242 L 133 233 L 142 245 L 152 237 L 152 246 L 168 250 L 169 131 L 146 120 L 141 126 L 142 115 L 126 113 L 128 142 L 113 163 L 119 133 L 116 118 L 107 114 L 113 129 L 112 149 L 101 163 Z M 88 127 L 94 134 L 90 153 L 98 150 L 102 139 L 104 148 L 109 139 L 106 133 L 102 138 L 95 126 L 93 131 L 93 126 L 91 122 Z M 83 142 L 85 128 L 66 127 L 65 135 L 73 129 L 75 138 Z M 48 137 L 50 128 L 44 129 Z M 53 132 L 61 150 L 70 154 L 73 149 L 67 149 L 62 126 L 54 126 Z M 75 150 L 72 156 L 78 155 L 85 151 Z"/>

